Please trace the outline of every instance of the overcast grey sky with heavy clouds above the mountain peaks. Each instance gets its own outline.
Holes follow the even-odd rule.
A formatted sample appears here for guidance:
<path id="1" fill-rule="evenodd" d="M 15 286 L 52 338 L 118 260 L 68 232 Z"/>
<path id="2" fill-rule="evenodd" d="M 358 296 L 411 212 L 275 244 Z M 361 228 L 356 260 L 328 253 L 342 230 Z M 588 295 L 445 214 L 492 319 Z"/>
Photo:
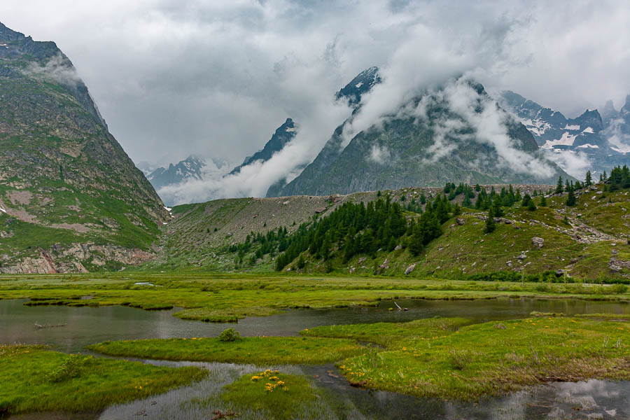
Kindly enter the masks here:
<path id="1" fill-rule="evenodd" d="M 59 45 L 136 162 L 240 162 L 287 117 L 316 153 L 373 65 L 391 102 L 465 72 L 570 117 L 630 93 L 630 1 L 3 0 L 0 22 Z"/>

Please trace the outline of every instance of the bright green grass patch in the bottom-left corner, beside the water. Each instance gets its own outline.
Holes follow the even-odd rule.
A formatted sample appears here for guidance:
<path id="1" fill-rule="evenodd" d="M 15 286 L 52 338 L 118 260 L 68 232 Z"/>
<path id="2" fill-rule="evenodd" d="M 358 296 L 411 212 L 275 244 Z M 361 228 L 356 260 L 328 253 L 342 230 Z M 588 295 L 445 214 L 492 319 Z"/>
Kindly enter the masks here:
<path id="1" fill-rule="evenodd" d="M 198 367 L 158 367 L 0 344 L 0 413 L 97 410 L 163 393 L 206 374 Z"/>

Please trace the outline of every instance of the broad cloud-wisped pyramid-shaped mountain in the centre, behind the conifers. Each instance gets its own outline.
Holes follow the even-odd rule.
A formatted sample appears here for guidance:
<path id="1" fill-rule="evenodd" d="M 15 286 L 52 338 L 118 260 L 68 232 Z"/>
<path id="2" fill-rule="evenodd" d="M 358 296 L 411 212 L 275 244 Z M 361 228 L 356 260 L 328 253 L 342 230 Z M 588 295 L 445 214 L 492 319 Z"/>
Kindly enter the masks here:
<path id="1" fill-rule="evenodd" d="M 349 194 L 446 182 L 552 183 L 567 176 L 538 151 L 524 125 L 468 80 L 416 97 L 343 147 L 348 123 L 335 130 L 300 176 L 267 195 Z"/>

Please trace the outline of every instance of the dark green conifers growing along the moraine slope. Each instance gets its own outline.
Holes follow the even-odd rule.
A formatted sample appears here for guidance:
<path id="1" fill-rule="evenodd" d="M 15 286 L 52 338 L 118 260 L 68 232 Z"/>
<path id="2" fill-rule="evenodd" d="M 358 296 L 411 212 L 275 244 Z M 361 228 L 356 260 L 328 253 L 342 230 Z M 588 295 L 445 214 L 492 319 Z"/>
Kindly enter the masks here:
<path id="1" fill-rule="evenodd" d="M 608 183 L 610 190 L 630 188 L 630 171 L 627 166 L 616 167 L 610 172 L 610 177 L 601 176 Z M 559 178 L 555 190 L 547 193 L 567 193 L 566 205 L 575 206 L 577 200 L 575 190 L 587 188 L 593 183 L 591 172 L 587 172 L 584 182 L 563 181 Z M 501 188 L 497 192 L 494 187 L 488 193 L 478 184 L 474 187 L 460 183 L 447 183 L 444 193 L 435 199 L 427 199 L 422 193 L 419 202 L 407 202 L 403 195 L 400 202 L 392 202 L 389 195 L 382 197 L 379 192 L 374 202 L 351 203 L 346 202 L 332 211 L 328 216 L 300 225 L 293 234 L 288 235 L 286 228 L 271 230 L 266 234 L 251 232 L 242 244 L 231 245 L 227 251 L 238 252 L 237 260 L 242 262 L 244 256 L 255 248 L 251 259 L 265 255 L 276 255 L 276 270 L 286 267 L 295 258 L 297 266 L 303 267 L 302 253 L 317 260 L 327 262 L 338 255 L 343 262 L 347 262 L 354 255 L 365 254 L 372 257 L 379 249 L 393 251 L 397 246 L 407 248 L 412 254 L 418 255 L 430 241 L 442 235 L 442 225 L 449 218 L 461 214 L 462 207 L 488 211 L 485 232 L 495 230 L 494 218 L 503 216 L 504 208 L 513 207 L 520 203 L 521 207 L 534 211 L 537 206 L 533 197 L 540 195 L 538 206 L 547 206 L 547 198 L 542 191 L 534 190 L 532 195 L 521 195 L 519 188 L 512 185 Z M 477 193 L 477 194 L 475 194 Z M 463 195 L 462 207 L 451 204 L 458 195 Z M 533 197 L 532 197 L 533 196 Z M 475 200 L 474 204 L 472 200 Z M 426 206 L 423 209 L 423 204 Z M 405 216 L 405 211 L 419 214 L 419 217 Z M 332 266 L 331 266 L 332 267 Z M 331 268 L 332 269 L 332 268 Z"/>

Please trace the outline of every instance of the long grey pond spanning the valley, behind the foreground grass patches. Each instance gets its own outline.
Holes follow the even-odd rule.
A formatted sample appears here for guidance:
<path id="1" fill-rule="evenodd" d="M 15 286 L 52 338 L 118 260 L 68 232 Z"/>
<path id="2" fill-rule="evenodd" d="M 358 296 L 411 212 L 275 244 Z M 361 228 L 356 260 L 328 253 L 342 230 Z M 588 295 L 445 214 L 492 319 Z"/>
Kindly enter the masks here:
<path id="1" fill-rule="evenodd" d="M 67 353 L 105 340 L 216 337 L 234 324 L 184 321 L 174 311 L 145 311 L 123 306 L 65 307 L 24 305 L 26 300 L 0 300 L 0 343 L 48 344 Z M 630 314 L 626 302 L 584 300 L 391 300 L 378 307 L 290 309 L 284 314 L 245 318 L 235 328 L 243 336 L 297 335 L 304 328 L 351 323 L 404 322 L 432 316 L 472 318 L 483 322 L 529 316 L 531 311 L 573 314 Z M 390 308 L 396 308 L 390 311 Z M 35 324 L 49 328 L 36 328 Z M 62 326 L 52 326 L 62 325 Z"/>

